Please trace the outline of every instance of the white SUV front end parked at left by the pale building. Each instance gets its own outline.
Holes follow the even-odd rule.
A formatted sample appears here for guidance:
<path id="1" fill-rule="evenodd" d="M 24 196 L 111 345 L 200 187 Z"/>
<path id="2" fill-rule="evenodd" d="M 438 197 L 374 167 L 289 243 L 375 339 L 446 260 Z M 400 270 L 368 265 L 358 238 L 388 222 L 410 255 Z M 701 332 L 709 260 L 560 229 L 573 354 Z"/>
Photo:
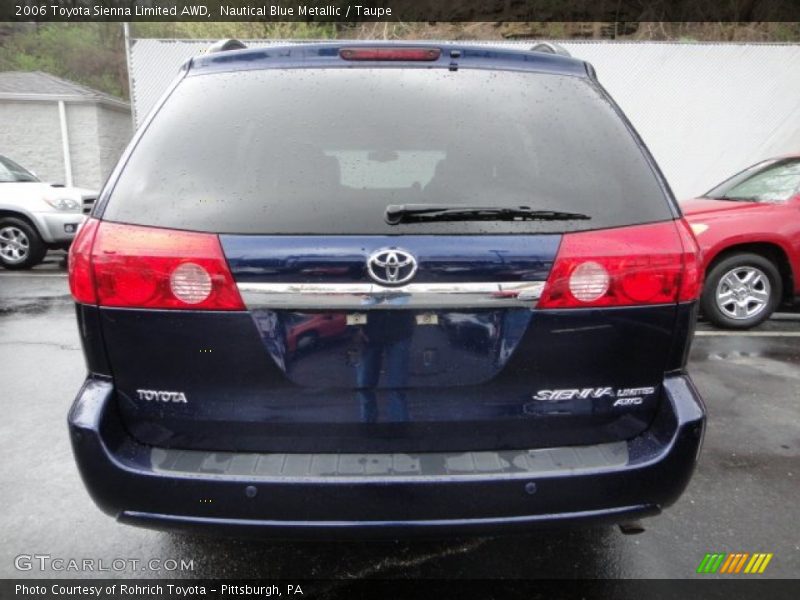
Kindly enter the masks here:
<path id="1" fill-rule="evenodd" d="M 0 156 L 0 265 L 30 269 L 48 249 L 67 249 L 97 193 L 44 183 Z"/>

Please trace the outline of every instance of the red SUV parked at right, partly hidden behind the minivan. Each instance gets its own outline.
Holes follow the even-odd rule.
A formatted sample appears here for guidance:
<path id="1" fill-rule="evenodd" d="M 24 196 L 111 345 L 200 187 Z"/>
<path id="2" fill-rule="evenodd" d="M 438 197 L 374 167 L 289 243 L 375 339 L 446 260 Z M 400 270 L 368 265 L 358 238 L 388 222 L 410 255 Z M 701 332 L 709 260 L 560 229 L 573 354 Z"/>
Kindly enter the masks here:
<path id="1" fill-rule="evenodd" d="M 703 251 L 709 321 L 747 329 L 800 296 L 800 155 L 755 164 L 681 208 Z"/>

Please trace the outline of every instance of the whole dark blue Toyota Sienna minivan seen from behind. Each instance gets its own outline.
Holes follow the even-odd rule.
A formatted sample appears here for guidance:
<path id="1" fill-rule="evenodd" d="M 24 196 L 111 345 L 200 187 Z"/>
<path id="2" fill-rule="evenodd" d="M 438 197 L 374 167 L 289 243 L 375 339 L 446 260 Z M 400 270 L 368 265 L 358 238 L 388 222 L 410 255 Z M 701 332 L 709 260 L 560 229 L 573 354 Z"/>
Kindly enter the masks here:
<path id="1" fill-rule="evenodd" d="M 434 535 L 675 502 L 697 249 L 583 61 L 191 60 L 72 247 L 95 502 L 151 527 Z"/>

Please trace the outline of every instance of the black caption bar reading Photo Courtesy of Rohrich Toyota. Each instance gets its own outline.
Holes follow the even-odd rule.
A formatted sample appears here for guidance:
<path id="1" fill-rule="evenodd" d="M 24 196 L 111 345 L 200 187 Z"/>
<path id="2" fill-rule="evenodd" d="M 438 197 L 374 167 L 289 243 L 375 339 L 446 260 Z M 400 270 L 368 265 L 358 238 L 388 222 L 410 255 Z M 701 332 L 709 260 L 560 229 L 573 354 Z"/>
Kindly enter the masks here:
<path id="1" fill-rule="evenodd" d="M 4 600 L 794 600 L 796 580 L 0 579 Z"/>

